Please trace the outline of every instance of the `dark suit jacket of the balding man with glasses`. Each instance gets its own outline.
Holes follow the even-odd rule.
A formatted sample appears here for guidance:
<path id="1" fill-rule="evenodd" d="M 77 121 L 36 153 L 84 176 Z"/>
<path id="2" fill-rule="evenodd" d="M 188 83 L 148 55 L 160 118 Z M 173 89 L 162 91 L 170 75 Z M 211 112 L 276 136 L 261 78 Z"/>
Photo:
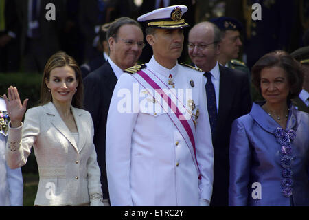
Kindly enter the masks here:
<path id="1" fill-rule="evenodd" d="M 219 111 L 214 146 L 214 188 L 210 206 L 228 206 L 229 137 L 233 120 L 252 106 L 248 74 L 219 65 Z"/>

